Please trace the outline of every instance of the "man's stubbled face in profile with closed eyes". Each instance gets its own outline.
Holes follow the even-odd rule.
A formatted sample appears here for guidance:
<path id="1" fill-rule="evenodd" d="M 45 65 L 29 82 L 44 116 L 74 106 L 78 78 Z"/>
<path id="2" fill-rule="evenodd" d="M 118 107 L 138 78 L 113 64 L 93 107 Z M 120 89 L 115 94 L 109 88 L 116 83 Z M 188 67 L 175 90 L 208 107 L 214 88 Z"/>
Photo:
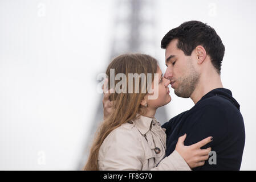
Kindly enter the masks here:
<path id="1" fill-rule="evenodd" d="M 178 97 L 189 98 L 194 92 L 200 75 L 194 68 L 196 60 L 186 56 L 177 48 L 178 40 L 172 40 L 165 50 L 166 71 L 164 77 L 170 80 L 174 93 Z M 193 54 L 192 54 L 193 55 Z"/>

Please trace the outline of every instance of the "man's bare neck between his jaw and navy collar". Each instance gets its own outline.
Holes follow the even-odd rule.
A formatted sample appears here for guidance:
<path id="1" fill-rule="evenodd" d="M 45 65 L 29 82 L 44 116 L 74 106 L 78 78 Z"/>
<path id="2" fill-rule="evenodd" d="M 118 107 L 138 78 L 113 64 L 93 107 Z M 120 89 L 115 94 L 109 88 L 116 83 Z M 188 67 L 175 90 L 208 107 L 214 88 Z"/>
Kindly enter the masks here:
<path id="1" fill-rule="evenodd" d="M 196 89 L 191 94 L 190 98 L 193 100 L 194 104 L 197 104 L 198 101 L 208 92 L 213 89 L 223 88 L 221 77 L 218 73 L 205 73 L 200 77 L 200 81 L 198 82 Z"/>

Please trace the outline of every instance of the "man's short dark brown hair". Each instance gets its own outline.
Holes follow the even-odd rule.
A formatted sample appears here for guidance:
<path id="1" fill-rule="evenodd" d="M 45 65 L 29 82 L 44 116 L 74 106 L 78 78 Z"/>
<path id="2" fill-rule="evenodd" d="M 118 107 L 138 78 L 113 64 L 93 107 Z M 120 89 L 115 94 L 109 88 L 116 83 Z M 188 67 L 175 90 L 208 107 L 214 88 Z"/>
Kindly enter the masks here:
<path id="1" fill-rule="evenodd" d="M 214 68 L 219 74 L 221 73 L 225 46 L 212 27 L 199 21 L 184 22 L 177 28 L 170 30 L 162 38 L 161 48 L 166 49 L 173 39 L 178 39 L 177 48 L 181 49 L 186 56 L 190 56 L 197 46 L 204 47 Z"/>

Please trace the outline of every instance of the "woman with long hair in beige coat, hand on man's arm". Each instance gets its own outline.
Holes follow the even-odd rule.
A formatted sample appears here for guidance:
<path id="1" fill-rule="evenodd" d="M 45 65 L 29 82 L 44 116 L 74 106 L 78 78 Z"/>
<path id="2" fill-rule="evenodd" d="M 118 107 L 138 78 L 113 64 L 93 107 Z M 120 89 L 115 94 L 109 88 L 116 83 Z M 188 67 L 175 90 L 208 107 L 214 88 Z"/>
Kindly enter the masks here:
<path id="1" fill-rule="evenodd" d="M 115 71 L 114 78 L 111 69 Z M 145 74 L 145 79 L 141 76 L 139 81 L 133 81 L 131 73 Z M 158 79 L 153 76 L 155 73 Z M 113 110 L 96 133 L 84 170 L 190 170 L 204 165 L 211 148 L 200 147 L 209 143 L 210 137 L 184 146 L 184 135 L 178 139 L 174 152 L 165 157 L 166 134 L 155 113 L 171 100 L 170 81 L 162 77 L 156 59 L 143 54 L 120 55 L 108 65 L 106 74 L 114 80 L 113 85 L 110 80 L 108 88 L 115 86 L 115 92 L 105 94 L 112 101 Z M 122 84 L 117 79 L 120 75 L 124 75 Z M 151 99 L 153 96 L 157 97 Z"/>

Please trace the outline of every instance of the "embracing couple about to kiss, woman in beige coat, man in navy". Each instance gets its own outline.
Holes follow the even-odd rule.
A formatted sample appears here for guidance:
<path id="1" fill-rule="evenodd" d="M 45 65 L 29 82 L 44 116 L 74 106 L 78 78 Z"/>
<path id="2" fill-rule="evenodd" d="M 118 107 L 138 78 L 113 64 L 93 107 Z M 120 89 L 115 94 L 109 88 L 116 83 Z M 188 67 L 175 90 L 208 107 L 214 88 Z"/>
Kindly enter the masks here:
<path id="1" fill-rule="evenodd" d="M 240 105 L 222 85 L 220 36 L 193 20 L 170 30 L 161 48 L 165 72 L 155 58 L 141 53 L 117 56 L 108 65 L 106 75 L 111 77 L 113 69 L 115 78 L 103 86 L 104 121 L 83 169 L 239 170 L 245 126 Z M 122 85 L 118 74 L 125 76 Z M 146 76 L 133 82 L 129 74 Z M 155 114 L 171 101 L 169 85 L 194 106 L 161 126 Z"/>

